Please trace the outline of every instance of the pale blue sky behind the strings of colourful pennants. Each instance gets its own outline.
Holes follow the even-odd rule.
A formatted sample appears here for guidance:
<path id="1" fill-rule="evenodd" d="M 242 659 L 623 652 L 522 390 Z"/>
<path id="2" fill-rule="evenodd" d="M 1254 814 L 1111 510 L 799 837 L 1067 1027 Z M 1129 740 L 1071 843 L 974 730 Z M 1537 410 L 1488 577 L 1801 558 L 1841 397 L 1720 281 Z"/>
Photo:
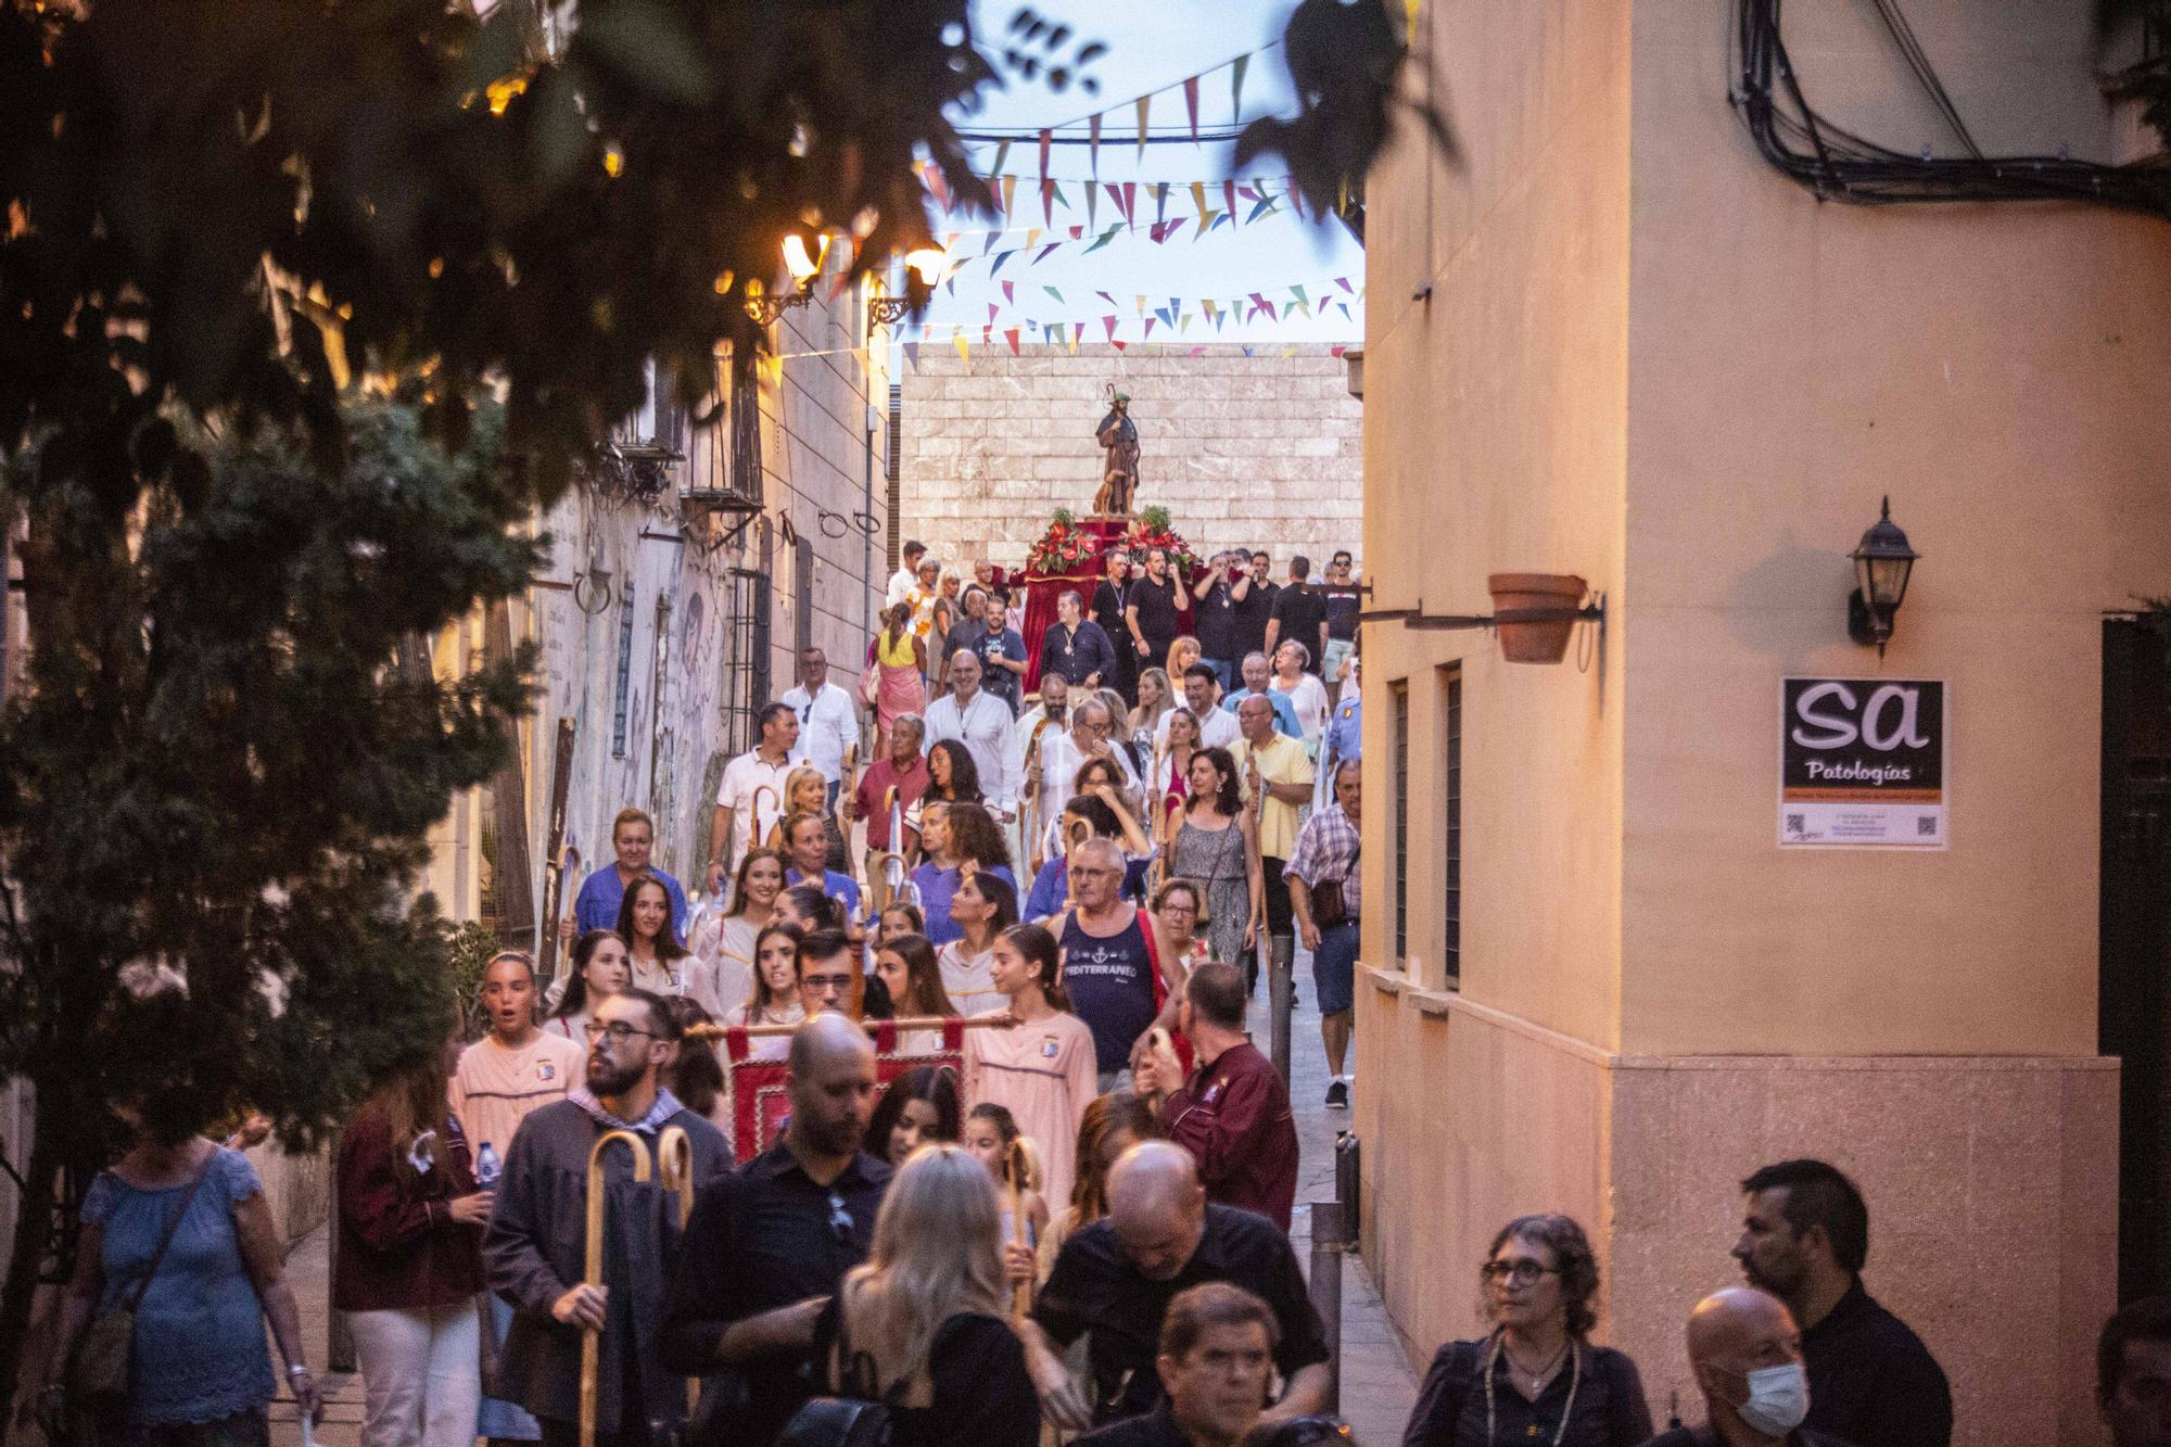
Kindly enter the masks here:
<path id="1" fill-rule="evenodd" d="M 1020 0 L 977 0 L 973 7 L 975 41 L 990 59 L 999 59 L 1012 33 L 1012 17 L 1025 9 Z M 1170 337 L 1168 322 L 1155 319 L 1151 341 L 1222 341 L 1222 343 L 1266 343 L 1266 341 L 1357 341 L 1363 337 L 1363 304 L 1342 289 L 1335 278 L 1346 278 L 1348 287 L 1363 289 L 1363 248 L 1340 222 L 1324 224 L 1298 219 L 1287 202 L 1279 202 L 1272 215 L 1257 222 L 1222 224 L 1205 237 L 1198 235 L 1198 206 L 1190 183 L 1203 180 L 1207 204 L 1222 211 L 1222 180 L 1235 152 L 1233 141 L 1190 139 L 1185 96 L 1181 83 L 1188 76 L 1220 67 L 1198 85 L 1198 128 L 1201 133 L 1233 130 L 1233 74 L 1227 67 L 1240 54 L 1250 56 L 1244 70 L 1242 119 L 1259 115 L 1294 113 L 1287 67 L 1281 59 L 1281 28 L 1290 15 L 1290 0 L 1040 0 L 1031 7 L 1044 20 L 1072 28 L 1062 46 L 1064 56 L 1075 56 L 1086 41 L 1103 41 L 1107 52 L 1092 61 L 1083 74 L 1101 83 L 1099 96 L 1090 96 L 1072 78 L 1062 93 L 1046 80 L 1025 80 L 1010 72 L 1007 89 L 986 91 L 975 115 L 955 115 L 962 130 L 1018 133 L 1010 146 L 1003 172 L 1018 176 L 1012 215 L 1003 222 L 988 222 L 960 211 L 953 219 L 942 219 L 934 211 L 936 237 L 960 235 L 951 248 L 951 259 L 966 259 L 953 274 L 953 285 L 936 289 L 936 302 L 927 313 L 927 328 L 907 328 L 903 341 L 929 345 L 953 345 L 951 335 L 964 326 L 968 345 L 981 345 L 981 330 L 990 326 L 988 306 L 999 306 L 994 345 L 1003 345 L 1003 330 L 1023 328 L 1023 341 L 1042 341 L 1044 335 L 1031 324 L 1086 324 L 1083 341 L 1107 341 L 1107 315 L 1118 317 L 1116 339 L 1146 341 L 1146 326 L 1138 311 L 1138 298 L 1146 300 L 1146 317 L 1168 309 L 1172 298 L 1181 298 L 1177 311 L 1190 311 L 1192 322 Z M 1264 50 L 1274 46 L 1272 50 Z M 1046 54 L 1046 50 L 1036 50 Z M 999 70 L 1003 70 L 999 65 Z M 1168 89 L 1161 89 L 1168 87 Z M 1153 141 L 1140 156 L 1138 109 L 1133 100 L 1153 91 L 1151 135 L 1168 137 Z M 1064 202 L 1055 204 L 1053 226 L 1042 219 L 1040 198 L 1040 148 L 1038 130 L 1057 126 L 1057 137 L 1088 137 L 1086 115 L 1105 111 L 1099 148 L 1099 178 L 1105 185 L 1142 183 L 1135 202 L 1140 222 L 1153 222 L 1153 202 L 1144 183 L 1168 180 L 1170 219 L 1190 217 L 1164 243 L 1155 243 L 1148 228 L 1118 230 L 1112 241 L 1092 250 L 1088 246 L 1109 226 L 1122 222 L 1118 206 L 1107 191 L 1099 193 L 1099 204 L 1088 226 L 1088 209 L 1081 180 L 1092 174 L 1092 152 L 1088 146 L 1055 143 L 1049 159 L 1049 176 L 1062 187 Z M 999 154 L 996 141 L 975 143 L 975 169 L 988 172 Z M 1240 183 L 1253 174 L 1264 174 L 1268 191 L 1281 196 L 1287 187 L 1287 167 L 1279 159 L 1250 167 Z M 1250 215 L 1253 200 L 1240 198 L 1242 215 Z M 994 239 L 992 252 L 988 228 L 1016 222 L 1018 226 Z M 1083 241 L 1068 241 L 1070 226 L 1088 226 Z M 1025 250 L 1029 228 L 1042 235 L 1031 250 Z M 1053 252 L 1044 248 L 1064 241 Z M 1001 252 L 1014 252 L 996 265 Z M 1005 295 L 1003 282 L 1010 282 Z M 1049 287 L 1055 291 L 1051 293 Z M 1290 289 L 1303 287 L 1313 302 L 1311 315 L 1290 313 Z M 1107 291 L 1116 302 L 1096 295 Z M 1216 311 L 1233 298 L 1248 298 L 1253 291 L 1274 302 L 1277 317 L 1257 313 L 1248 300 L 1246 317 L 1229 317 L 1220 328 L 1203 315 L 1201 300 L 1211 300 Z M 1320 295 L 1340 298 L 1348 304 L 1348 317 L 1340 309 L 1318 306 Z M 1324 311 L 1324 317 L 1320 315 Z"/>

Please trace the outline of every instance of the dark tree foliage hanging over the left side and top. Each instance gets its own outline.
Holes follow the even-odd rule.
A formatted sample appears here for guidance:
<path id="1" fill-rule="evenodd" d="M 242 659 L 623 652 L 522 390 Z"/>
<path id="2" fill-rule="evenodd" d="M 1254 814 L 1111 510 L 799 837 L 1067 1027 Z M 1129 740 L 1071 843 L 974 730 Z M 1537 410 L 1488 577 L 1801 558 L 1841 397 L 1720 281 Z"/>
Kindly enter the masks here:
<path id="1" fill-rule="evenodd" d="M 1400 59 L 1374 28 L 1340 74 L 1320 2 L 1305 115 L 1259 137 L 1313 200 L 1385 141 Z M 923 159 L 990 200 L 947 119 L 996 80 L 966 0 L 564 13 L 0 0 L 0 526 L 30 617 L 0 1071 L 37 1086 L 0 1380 L 106 1102 L 254 1104 L 300 1138 L 439 1039 L 445 926 L 408 891 L 525 658 L 441 684 L 417 639 L 525 584 L 523 519 L 651 363 L 695 406 L 721 345 L 760 345 L 790 230 L 884 265 L 927 237 Z"/>

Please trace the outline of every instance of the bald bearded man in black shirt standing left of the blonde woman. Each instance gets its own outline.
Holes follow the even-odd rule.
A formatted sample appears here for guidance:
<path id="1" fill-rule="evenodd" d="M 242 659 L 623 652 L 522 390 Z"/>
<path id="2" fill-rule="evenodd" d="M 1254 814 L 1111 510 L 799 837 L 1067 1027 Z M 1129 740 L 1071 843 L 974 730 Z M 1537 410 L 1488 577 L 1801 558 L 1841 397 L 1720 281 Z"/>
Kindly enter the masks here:
<path id="1" fill-rule="evenodd" d="M 814 1321 L 866 1260 L 890 1184 L 888 1162 L 860 1152 L 875 1047 L 858 1021 L 821 1012 L 799 1026 L 784 1089 L 784 1136 L 695 1197 L 664 1319 L 671 1371 L 745 1377 L 734 1443 L 769 1443 L 805 1401 Z"/>

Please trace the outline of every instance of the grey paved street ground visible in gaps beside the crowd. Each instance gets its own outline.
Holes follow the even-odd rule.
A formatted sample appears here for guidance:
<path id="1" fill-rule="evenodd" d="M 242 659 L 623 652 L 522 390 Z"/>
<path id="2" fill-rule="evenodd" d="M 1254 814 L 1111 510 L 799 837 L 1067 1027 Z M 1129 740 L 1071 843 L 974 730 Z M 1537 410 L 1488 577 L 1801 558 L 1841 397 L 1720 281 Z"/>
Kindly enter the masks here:
<path id="1" fill-rule="evenodd" d="M 1292 1241 L 1296 1254 L 1309 1269 L 1311 1260 L 1311 1212 L 1309 1201 L 1331 1201 L 1335 1195 L 1335 1132 L 1348 1128 L 1348 1110 L 1326 1110 L 1320 1102 L 1326 1095 L 1326 1054 L 1320 1047 L 1320 1017 L 1303 1008 L 1311 1002 L 1311 965 L 1298 958 L 1298 1015 L 1292 1021 L 1294 1039 L 1294 1106 L 1296 1132 L 1303 1145 L 1303 1175 L 1296 1188 L 1296 1219 Z M 1261 997 L 1266 986 L 1259 989 Z M 1261 1045 L 1268 1041 L 1264 1004 L 1253 1004 L 1253 1028 Z M 302 1301 L 302 1330 L 308 1341 L 310 1360 L 323 1364 L 323 1343 L 330 1325 L 330 1280 L 326 1260 L 326 1232 L 315 1232 L 295 1245 L 287 1260 L 293 1275 L 295 1295 Z M 323 1447 L 358 1447 L 363 1423 L 363 1382 L 358 1375 L 330 1375 L 326 1386 L 332 1393 L 332 1410 L 317 1432 Z M 1394 1328 L 1381 1308 L 1379 1293 L 1363 1271 L 1357 1254 L 1344 1258 L 1342 1271 L 1342 1414 L 1353 1427 L 1353 1440 L 1361 1447 L 1394 1447 L 1402 1440 L 1402 1423 L 1409 1419 L 1411 1401 L 1418 1395 L 1418 1380 L 1409 1369 L 1402 1349 L 1396 1345 Z M 293 1443 L 293 1401 L 271 1408 L 274 1440 Z"/>

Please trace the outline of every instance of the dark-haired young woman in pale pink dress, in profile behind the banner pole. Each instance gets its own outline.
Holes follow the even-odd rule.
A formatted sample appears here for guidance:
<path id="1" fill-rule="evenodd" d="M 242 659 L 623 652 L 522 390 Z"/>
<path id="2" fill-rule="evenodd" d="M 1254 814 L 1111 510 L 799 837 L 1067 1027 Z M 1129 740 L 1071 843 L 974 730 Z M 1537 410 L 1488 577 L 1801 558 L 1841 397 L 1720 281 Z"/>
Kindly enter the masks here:
<path id="1" fill-rule="evenodd" d="M 994 939 L 990 976 L 1018 1023 L 1014 1030 L 966 1030 L 966 1099 L 1005 1106 L 1040 1154 L 1042 1199 L 1068 1201 L 1079 1119 L 1101 1093 L 1092 1030 L 1070 1012 L 1062 954 L 1040 926 L 1003 930 Z"/>

